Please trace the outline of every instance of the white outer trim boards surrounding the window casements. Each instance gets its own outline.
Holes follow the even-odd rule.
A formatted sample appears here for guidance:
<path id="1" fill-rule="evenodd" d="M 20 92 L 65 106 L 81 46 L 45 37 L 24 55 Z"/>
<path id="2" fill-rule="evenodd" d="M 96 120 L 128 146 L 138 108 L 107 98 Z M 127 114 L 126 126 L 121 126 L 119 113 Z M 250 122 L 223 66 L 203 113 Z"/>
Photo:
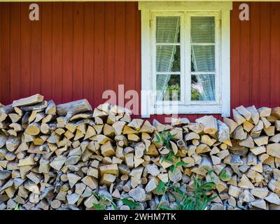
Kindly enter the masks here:
<path id="1" fill-rule="evenodd" d="M 153 90 L 152 17 L 153 13 L 162 12 L 174 12 L 177 15 L 180 12 L 202 12 L 204 15 L 207 12 L 216 12 L 220 15 L 221 29 L 218 29 L 221 31 L 218 44 L 220 67 L 217 69 L 220 85 L 217 86 L 221 89 L 216 91 L 218 104 L 217 102 L 179 104 L 176 113 L 221 113 L 222 116 L 230 116 L 230 10 L 232 10 L 232 2 L 139 2 L 139 10 L 141 10 L 141 90 L 143 90 L 141 91 L 141 116 L 148 118 L 151 114 L 155 114 L 154 111 L 156 114 L 174 113 L 170 106 L 154 104 L 151 94 Z"/>

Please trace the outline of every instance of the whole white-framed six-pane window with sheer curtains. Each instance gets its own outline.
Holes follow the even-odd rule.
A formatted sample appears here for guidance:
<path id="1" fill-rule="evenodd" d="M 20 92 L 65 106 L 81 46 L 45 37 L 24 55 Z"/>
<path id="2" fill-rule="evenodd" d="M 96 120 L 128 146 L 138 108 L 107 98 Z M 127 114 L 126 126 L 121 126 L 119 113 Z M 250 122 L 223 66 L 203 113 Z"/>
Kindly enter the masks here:
<path id="1" fill-rule="evenodd" d="M 230 115 L 231 7 L 221 2 L 139 3 L 142 116 Z"/>

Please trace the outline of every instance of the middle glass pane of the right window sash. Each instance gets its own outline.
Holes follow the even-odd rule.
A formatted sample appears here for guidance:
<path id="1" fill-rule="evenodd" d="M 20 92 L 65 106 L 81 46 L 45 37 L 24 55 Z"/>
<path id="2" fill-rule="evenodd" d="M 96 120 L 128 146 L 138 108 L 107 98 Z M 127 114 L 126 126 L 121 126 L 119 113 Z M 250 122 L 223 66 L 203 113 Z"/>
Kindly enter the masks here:
<path id="1" fill-rule="evenodd" d="M 192 71 L 215 71 L 214 45 L 192 45 Z"/>

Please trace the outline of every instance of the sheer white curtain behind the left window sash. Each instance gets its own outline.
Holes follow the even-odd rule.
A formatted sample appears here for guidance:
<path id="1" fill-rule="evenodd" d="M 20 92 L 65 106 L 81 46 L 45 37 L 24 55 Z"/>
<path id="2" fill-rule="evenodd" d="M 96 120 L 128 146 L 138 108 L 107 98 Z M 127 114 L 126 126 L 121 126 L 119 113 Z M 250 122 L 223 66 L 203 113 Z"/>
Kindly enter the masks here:
<path id="1" fill-rule="evenodd" d="M 156 27 L 157 43 L 177 43 L 180 31 L 179 17 L 158 17 Z M 174 64 L 176 45 L 157 45 L 156 49 L 156 69 L 158 72 L 170 72 Z M 171 74 L 157 76 L 158 100 L 164 100 L 165 91 Z"/>

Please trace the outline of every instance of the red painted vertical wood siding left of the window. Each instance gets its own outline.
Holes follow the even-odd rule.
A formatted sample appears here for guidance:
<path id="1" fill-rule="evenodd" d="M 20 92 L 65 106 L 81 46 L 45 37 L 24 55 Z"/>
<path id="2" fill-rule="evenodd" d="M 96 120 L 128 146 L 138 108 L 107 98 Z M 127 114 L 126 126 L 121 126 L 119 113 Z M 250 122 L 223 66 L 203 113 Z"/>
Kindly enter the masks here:
<path id="1" fill-rule="evenodd" d="M 138 4 L 0 3 L 0 102 L 37 92 L 57 104 L 104 90 L 141 88 L 141 21 Z"/>

